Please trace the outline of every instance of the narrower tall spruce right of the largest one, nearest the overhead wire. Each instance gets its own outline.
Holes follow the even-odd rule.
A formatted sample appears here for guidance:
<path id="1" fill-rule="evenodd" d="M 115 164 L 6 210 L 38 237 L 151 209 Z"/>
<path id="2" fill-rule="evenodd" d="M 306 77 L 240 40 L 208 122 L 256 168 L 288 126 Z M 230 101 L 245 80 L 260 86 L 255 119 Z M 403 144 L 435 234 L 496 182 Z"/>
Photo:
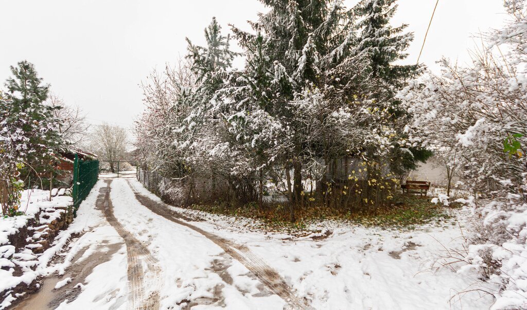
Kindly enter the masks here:
<path id="1" fill-rule="evenodd" d="M 357 25 L 360 29 L 357 52 L 367 55 L 369 78 L 377 84 L 370 96 L 375 100 L 374 106 L 389 113 L 386 125 L 401 136 L 404 135 L 402 132 L 409 115 L 400 107 L 401 101 L 395 95 L 409 80 L 419 75 L 423 66 L 396 64 L 408 56 L 404 51 L 413 41 L 413 34 L 405 32 L 406 24 L 398 27 L 390 25 L 397 11 L 395 3 L 396 0 L 363 0 L 355 6 L 354 12 L 357 18 L 362 18 Z M 415 169 L 417 162 L 424 162 L 431 155 L 423 148 L 402 149 L 396 144 L 391 154 L 394 159 L 392 172 L 403 174 Z"/>

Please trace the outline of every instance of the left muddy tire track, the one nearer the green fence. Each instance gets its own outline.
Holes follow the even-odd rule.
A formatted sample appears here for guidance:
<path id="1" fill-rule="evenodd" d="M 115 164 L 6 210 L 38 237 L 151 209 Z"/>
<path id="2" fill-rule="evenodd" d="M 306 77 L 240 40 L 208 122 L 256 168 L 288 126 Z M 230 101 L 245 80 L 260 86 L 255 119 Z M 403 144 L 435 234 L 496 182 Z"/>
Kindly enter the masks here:
<path id="1" fill-rule="evenodd" d="M 113 206 L 110 199 L 111 179 L 105 181 L 106 187 L 101 187 L 97 196 L 96 206 L 101 209 L 106 217 L 106 221 L 124 239 L 126 244 L 126 255 L 128 257 L 128 288 L 129 288 L 129 308 L 132 309 L 159 309 L 159 274 L 161 272 L 158 261 L 152 256 L 145 247 L 130 232 L 126 231 L 113 214 Z M 143 262 L 147 265 L 147 270 L 143 271 Z M 153 281 L 149 283 L 151 293 L 145 295 L 143 277 L 145 272 Z"/>

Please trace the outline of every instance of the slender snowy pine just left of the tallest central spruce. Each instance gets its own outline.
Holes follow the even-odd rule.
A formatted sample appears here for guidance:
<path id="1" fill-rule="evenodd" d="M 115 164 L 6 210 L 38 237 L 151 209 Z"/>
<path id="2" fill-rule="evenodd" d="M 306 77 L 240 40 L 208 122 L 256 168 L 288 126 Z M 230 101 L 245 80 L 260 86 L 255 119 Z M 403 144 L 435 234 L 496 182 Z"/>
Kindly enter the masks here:
<path id="1" fill-rule="evenodd" d="M 223 181 L 229 180 L 232 169 L 228 167 L 234 164 L 223 134 L 228 129 L 217 104 L 217 97 L 232 61 L 238 54 L 231 51 L 231 38 L 221 33 L 216 18 L 212 18 L 210 25 L 204 30 L 204 36 L 207 42 L 205 46 L 194 45 L 187 39 L 187 59 L 196 81 L 174 105 L 174 111 L 182 113 L 174 117 L 177 125 L 174 125 L 173 144 L 183 153 L 182 162 L 187 175 L 199 174 L 200 177 L 212 179 L 214 184 L 218 176 Z"/>

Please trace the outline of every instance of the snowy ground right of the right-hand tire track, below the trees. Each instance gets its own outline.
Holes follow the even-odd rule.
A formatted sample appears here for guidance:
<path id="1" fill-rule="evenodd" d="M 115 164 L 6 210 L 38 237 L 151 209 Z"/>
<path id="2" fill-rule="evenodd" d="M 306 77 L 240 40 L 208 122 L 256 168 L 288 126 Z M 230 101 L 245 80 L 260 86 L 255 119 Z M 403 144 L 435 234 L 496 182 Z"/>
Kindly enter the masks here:
<path id="1" fill-rule="evenodd" d="M 160 201 L 140 184 L 134 182 L 134 188 Z M 318 240 L 250 232 L 225 217 L 209 218 L 212 221 L 193 224 L 249 247 L 317 309 L 481 309 L 493 302 L 491 296 L 472 290 L 496 287 L 485 286 L 475 274 L 442 267 L 447 250 L 461 248 L 464 212 L 442 225 L 406 232 L 322 223 L 319 226 L 332 233 Z"/>

